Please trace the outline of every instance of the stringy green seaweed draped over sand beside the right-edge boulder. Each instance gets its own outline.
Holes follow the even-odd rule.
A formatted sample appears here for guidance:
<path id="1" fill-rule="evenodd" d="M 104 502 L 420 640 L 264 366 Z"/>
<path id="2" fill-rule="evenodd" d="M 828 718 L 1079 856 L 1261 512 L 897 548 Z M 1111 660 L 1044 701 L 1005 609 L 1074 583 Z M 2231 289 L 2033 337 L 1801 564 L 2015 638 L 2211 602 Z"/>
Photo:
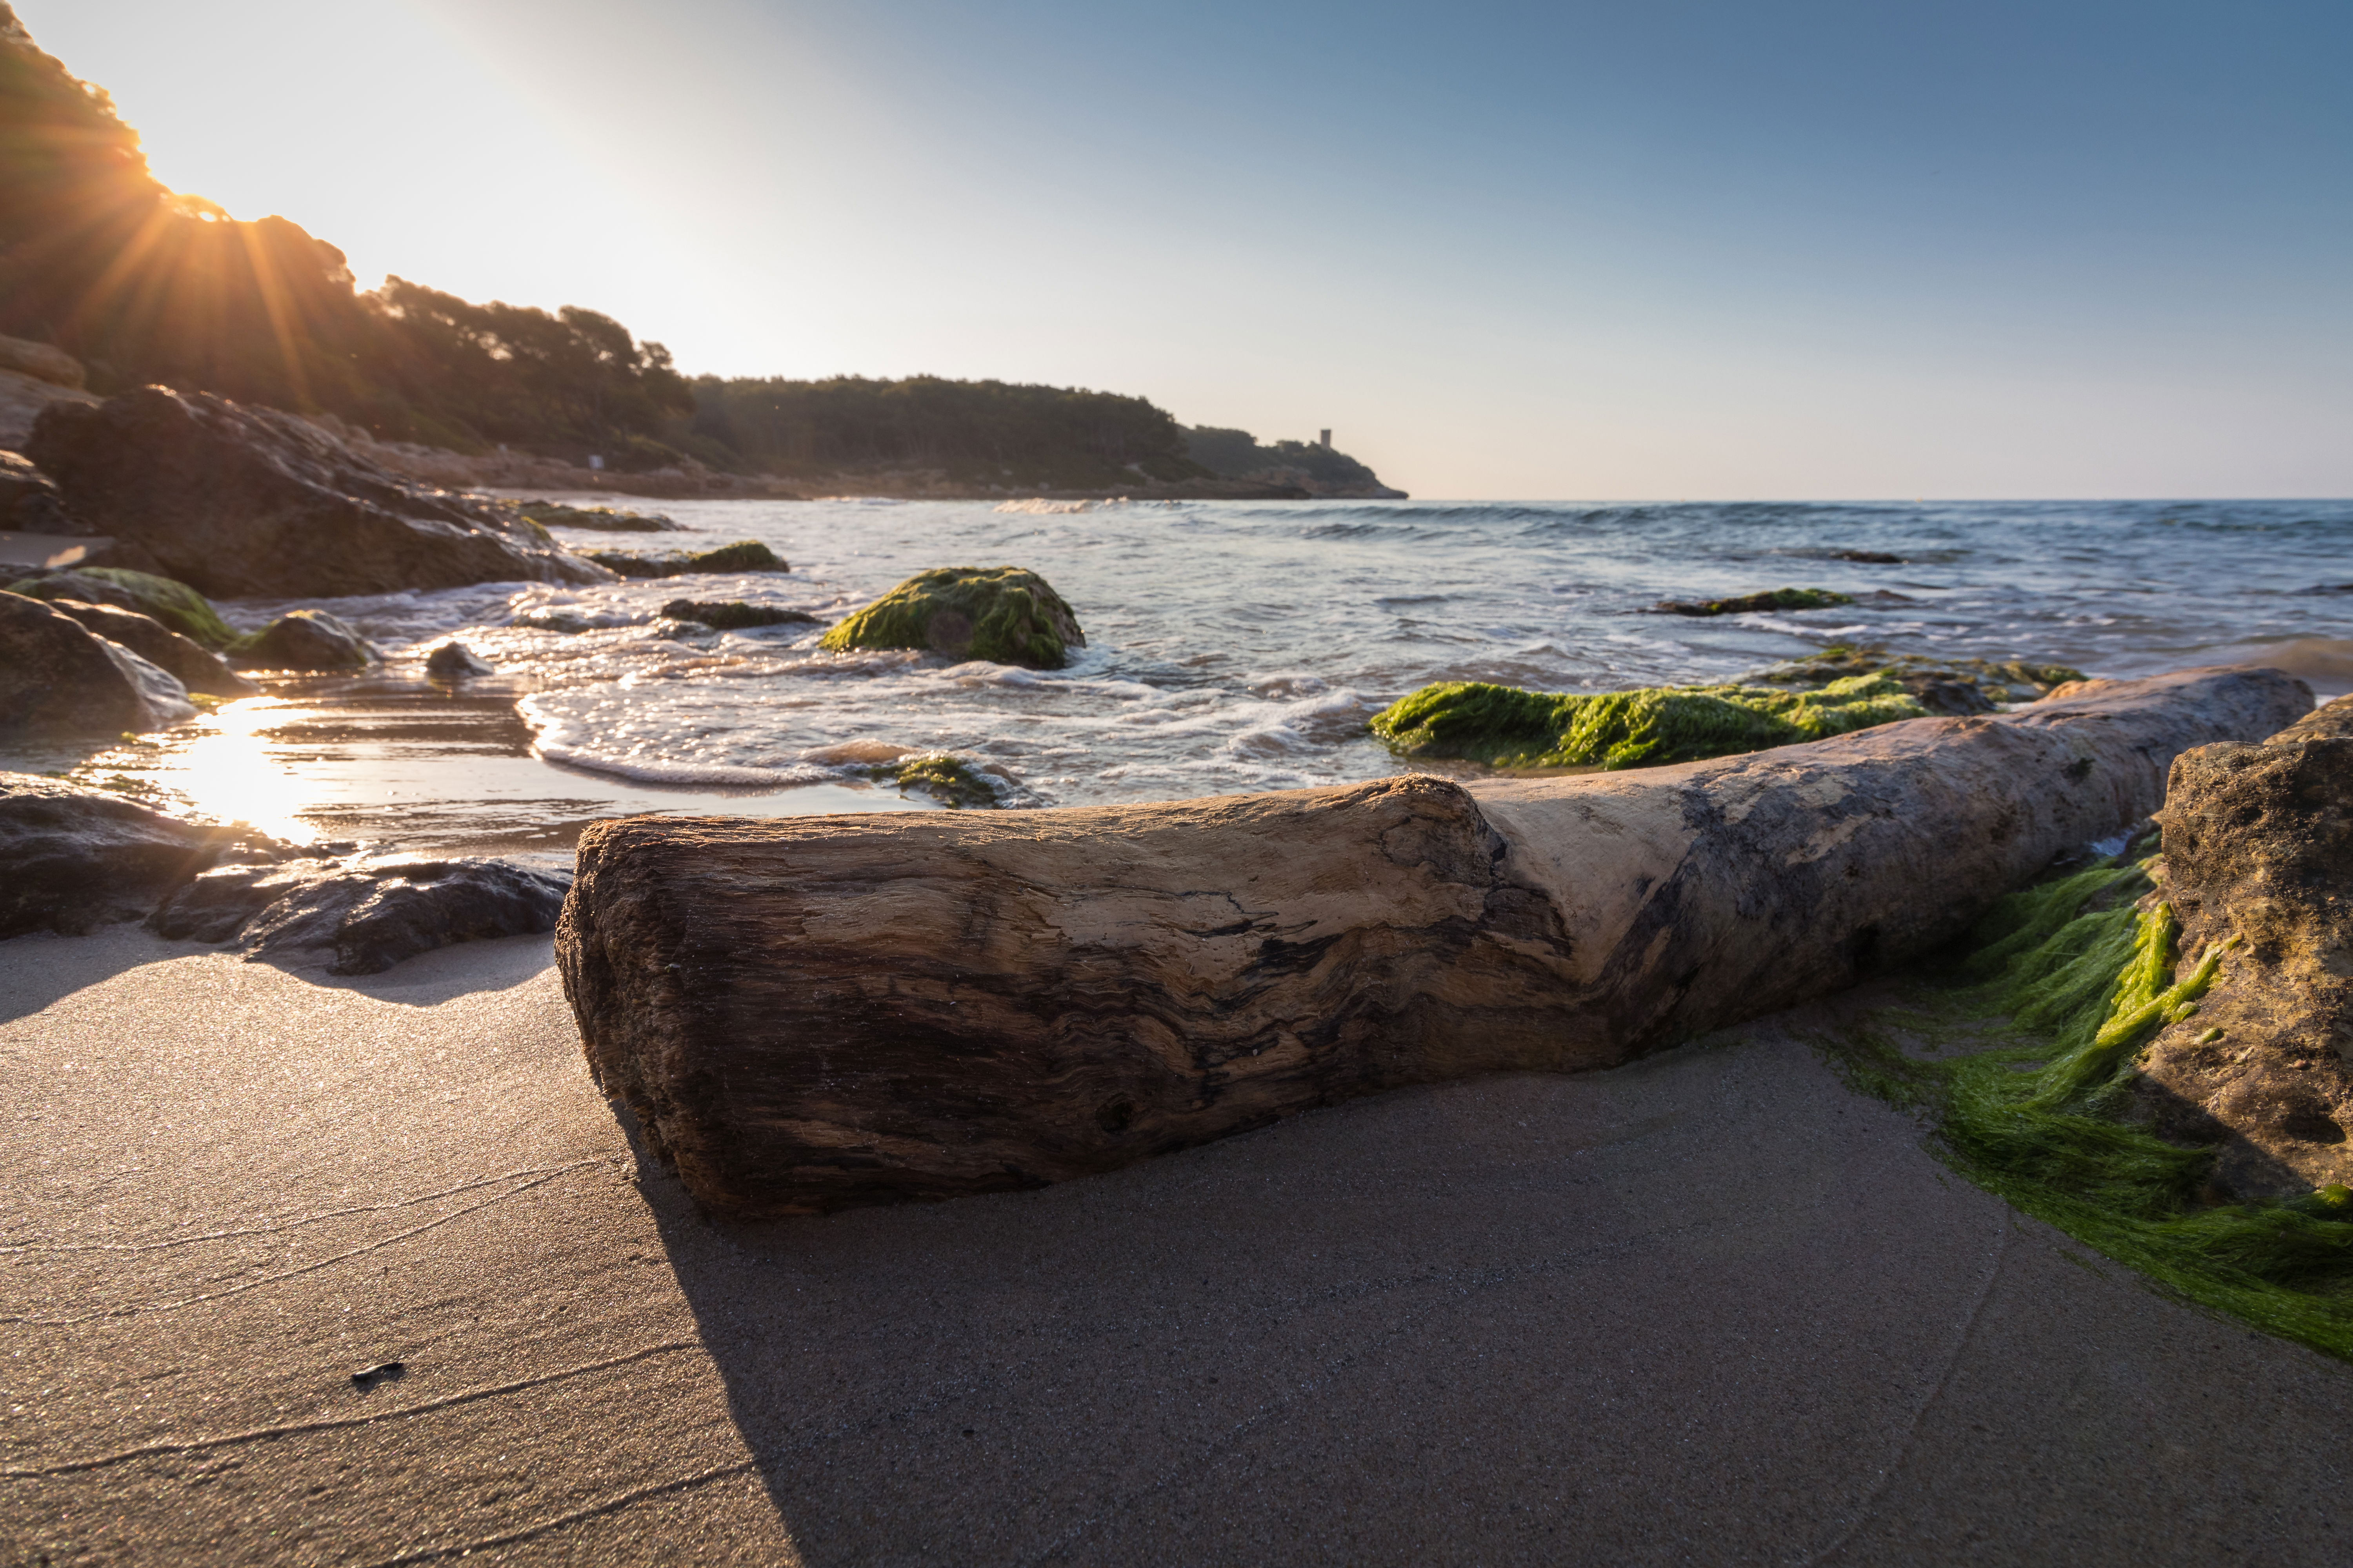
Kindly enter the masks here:
<path id="1" fill-rule="evenodd" d="M 1979 1187 L 2184 1300 L 2353 1361 L 2353 1192 L 2219 1204 L 2214 1150 L 2129 1119 L 2134 1051 L 2226 961 L 2209 947 L 2184 966 L 2172 907 L 2132 903 L 2148 889 L 2148 863 L 2104 863 L 2005 898 L 1911 1009 L 1826 1053 L 1927 1114 L 1937 1154 Z"/>

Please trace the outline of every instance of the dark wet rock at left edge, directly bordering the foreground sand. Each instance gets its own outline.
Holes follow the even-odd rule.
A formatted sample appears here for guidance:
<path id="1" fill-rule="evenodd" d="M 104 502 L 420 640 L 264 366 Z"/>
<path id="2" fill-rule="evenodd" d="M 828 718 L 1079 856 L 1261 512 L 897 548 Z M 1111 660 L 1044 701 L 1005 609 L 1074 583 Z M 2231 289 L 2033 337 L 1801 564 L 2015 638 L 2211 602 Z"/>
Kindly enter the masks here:
<path id="1" fill-rule="evenodd" d="M 139 919 L 212 865 L 285 853 L 242 825 L 188 823 L 106 790 L 0 773 L 0 938 Z"/>

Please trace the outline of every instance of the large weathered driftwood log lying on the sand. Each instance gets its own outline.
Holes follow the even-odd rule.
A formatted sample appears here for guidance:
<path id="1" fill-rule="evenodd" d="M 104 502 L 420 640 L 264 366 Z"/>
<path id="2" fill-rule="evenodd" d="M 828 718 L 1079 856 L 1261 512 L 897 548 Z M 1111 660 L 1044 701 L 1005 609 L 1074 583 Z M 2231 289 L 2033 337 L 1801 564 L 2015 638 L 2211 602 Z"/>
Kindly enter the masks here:
<path id="1" fill-rule="evenodd" d="M 558 964 L 713 1211 L 1033 1187 L 1849 985 L 2306 708 L 2193 670 L 1640 773 L 600 823 Z"/>

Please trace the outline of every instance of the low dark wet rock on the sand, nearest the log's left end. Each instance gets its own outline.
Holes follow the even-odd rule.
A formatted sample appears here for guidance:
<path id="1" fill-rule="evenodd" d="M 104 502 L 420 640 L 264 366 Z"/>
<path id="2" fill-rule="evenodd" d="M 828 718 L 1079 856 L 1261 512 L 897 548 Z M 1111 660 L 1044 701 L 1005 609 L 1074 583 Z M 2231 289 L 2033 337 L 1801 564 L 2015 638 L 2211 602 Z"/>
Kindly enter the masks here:
<path id="1" fill-rule="evenodd" d="M 233 898 L 207 889 L 228 907 Z M 242 896 L 275 891 L 252 879 Z M 553 931 L 572 879 L 511 860 L 395 860 L 341 867 L 280 891 L 245 926 L 247 959 L 327 961 L 339 976 L 372 976 L 400 959 L 494 936 Z"/>

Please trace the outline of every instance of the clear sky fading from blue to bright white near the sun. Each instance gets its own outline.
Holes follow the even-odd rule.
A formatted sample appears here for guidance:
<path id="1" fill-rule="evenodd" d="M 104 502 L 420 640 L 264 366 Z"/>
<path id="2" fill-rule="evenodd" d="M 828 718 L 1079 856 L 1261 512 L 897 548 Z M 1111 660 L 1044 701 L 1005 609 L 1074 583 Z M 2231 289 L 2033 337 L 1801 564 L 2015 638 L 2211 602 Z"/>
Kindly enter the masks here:
<path id="1" fill-rule="evenodd" d="M 1417 496 L 2353 494 L 2344 0 L 16 0 L 155 174 L 692 374 Z"/>

